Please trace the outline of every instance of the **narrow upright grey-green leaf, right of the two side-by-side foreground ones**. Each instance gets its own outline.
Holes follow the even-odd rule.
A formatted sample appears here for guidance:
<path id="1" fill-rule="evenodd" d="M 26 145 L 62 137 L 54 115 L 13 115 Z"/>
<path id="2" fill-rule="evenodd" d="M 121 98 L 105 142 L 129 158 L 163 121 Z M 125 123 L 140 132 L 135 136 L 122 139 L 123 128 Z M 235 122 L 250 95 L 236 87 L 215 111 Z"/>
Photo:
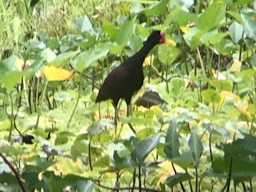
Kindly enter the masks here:
<path id="1" fill-rule="evenodd" d="M 195 131 L 193 131 L 190 136 L 189 145 L 192 157 L 194 158 L 194 166 L 198 168 L 199 160 L 202 155 L 202 142 Z"/>

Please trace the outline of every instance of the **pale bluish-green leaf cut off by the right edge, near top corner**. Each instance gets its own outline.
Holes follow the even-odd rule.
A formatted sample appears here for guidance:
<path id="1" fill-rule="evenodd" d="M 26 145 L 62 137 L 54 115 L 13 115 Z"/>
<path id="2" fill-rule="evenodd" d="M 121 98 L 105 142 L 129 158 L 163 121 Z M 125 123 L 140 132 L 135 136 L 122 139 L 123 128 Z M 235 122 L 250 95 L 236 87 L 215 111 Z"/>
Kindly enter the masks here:
<path id="1" fill-rule="evenodd" d="M 242 23 L 246 34 L 256 40 L 256 22 L 249 14 L 241 14 Z"/>

